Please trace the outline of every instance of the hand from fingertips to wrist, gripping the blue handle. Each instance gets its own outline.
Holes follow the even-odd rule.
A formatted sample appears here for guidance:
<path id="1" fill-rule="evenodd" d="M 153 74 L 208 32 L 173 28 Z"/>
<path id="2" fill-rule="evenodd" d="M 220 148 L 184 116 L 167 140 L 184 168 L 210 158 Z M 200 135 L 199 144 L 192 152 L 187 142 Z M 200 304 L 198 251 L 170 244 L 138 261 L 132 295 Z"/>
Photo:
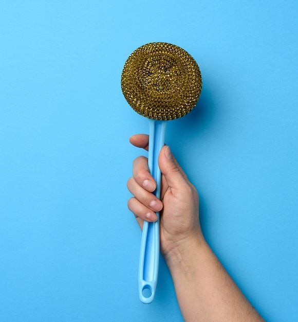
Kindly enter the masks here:
<path id="1" fill-rule="evenodd" d="M 132 136 L 129 141 L 136 147 L 148 150 L 148 135 Z M 190 245 L 203 239 L 199 224 L 199 198 L 170 148 L 164 146 L 159 154 L 161 177 L 160 200 L 152 193 L 156 182 L 149 172 L 147 158 L 139 156 L 133 163 L 133 177 L 127 181 L 134 195 L 128 201 L 142 228 L 144 220 L 156 221 L 155 211 L 160 211 L 160 248 L 166 257 L 173 249 Z"/>

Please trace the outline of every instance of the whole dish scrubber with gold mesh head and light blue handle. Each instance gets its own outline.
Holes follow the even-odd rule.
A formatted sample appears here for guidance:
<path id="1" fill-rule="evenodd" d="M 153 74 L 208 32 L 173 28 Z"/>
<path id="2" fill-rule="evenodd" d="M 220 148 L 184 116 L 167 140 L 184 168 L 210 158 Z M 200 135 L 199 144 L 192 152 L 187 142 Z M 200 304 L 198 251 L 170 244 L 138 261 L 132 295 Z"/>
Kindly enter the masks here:
<path id="1" fill-rule="evenodd" d="M 164 146 L 166 121 L 188 114 L 202 89 L 200 69 L 184 49 L 168 43 L 149 43 L 137 48 L 125 62 L 122 92 L 128 104 L 149 119 L 148 167 L 160 198 L 158 156 Z M 139 296 L 154 299 L 159 266 L 159 213 L 156 222 L 144 222 L 139 262 Z"/>

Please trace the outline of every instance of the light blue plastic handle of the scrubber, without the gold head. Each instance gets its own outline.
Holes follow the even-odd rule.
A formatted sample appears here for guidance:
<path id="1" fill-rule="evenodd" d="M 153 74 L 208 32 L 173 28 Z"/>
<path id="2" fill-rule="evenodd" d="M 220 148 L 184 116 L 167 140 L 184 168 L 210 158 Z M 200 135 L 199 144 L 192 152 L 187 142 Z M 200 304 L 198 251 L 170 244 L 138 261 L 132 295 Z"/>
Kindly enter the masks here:
<path id="1" fill-rule="evenodd" d="M 167 121 L 149 119 L 149 153 L 148 167 L 156 182 L 154 194 L 160 198 L 161 173 L 158 156 L 164 146 Z M 140 262 L 139 262 L 139 296 L 143 303 L 151 303 L 155 296 L 159 266 L 159 212 L 156 222 L 144 222 Z"/>

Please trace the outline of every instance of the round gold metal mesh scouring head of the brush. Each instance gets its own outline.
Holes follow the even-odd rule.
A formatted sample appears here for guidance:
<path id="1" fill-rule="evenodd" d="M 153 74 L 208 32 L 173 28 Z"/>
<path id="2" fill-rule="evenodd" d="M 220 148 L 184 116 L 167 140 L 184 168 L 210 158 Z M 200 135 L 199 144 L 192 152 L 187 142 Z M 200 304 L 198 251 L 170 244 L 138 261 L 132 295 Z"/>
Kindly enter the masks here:
<path id="1" fill-rule="evenodd" d="M 188 114 L 202 89 L 199 66 L 184 49 L 168 43 L 137 48 L 125 62 L 121 88 L 139 114 L 172 120 Z"/>

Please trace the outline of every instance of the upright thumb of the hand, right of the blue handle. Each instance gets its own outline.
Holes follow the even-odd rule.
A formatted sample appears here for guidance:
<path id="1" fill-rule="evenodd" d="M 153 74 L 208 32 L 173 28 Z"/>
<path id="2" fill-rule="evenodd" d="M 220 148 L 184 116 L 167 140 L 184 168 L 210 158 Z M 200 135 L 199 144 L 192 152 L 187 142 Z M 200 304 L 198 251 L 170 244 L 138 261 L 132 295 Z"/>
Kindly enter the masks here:
<path id="1" fill-rule="evenodd" d="M 161 149 L 158 165 L 169 187 L 179 189 L 185 184 L 185 174 L 173 157 L 169 146 Z"/>

